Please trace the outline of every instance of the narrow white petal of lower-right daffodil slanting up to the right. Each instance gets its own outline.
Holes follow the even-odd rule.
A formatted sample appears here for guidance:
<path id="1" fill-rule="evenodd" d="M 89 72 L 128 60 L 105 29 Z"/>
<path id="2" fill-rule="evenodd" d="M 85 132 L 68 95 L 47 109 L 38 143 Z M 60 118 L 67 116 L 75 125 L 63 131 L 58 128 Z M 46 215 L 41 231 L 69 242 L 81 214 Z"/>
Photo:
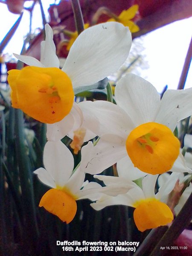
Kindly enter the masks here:
<path id="1" fill-rule="evenodd" d="M 179 173 L 172 172 L 171 175 L 169 175 L 166 182 L 160 186 L 159 191 L 155 195 L 157 199 L 161 199 L 166 195 L 169 195 L 169 193 L 174 189 L 175 183 L 179 178 Z"/>

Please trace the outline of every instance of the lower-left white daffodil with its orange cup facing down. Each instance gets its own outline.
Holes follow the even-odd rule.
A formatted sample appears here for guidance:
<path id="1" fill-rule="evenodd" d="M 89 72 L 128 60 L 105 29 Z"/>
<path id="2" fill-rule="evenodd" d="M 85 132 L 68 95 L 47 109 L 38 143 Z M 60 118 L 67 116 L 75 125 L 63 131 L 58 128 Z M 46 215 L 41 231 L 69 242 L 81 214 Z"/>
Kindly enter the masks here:
<path id="1" fill-rule="evenodd" d="M 86 148 L 85 148 L 86 149 Z M 87 164 L 87 151 L 82 152 L 81 163 Z M 73 172 L 73 154 L 61 141 L 48 141 L 44 148 L 44 168 L 34 173 L 42 183 L 51 187 L 41 198 L 40 207 L 70 223 L 76 215 L 76 200 L 88 198 L 98 200 L 102 194 L 118 195 L 128 191 L 125 184 L 102 187 L 96 182 L 84 182 L 85 173 L 81 165 Z M 83 165 L 84 166 L 84 165 Z M 96 166 L 95 166 L 96 167 Z"/>

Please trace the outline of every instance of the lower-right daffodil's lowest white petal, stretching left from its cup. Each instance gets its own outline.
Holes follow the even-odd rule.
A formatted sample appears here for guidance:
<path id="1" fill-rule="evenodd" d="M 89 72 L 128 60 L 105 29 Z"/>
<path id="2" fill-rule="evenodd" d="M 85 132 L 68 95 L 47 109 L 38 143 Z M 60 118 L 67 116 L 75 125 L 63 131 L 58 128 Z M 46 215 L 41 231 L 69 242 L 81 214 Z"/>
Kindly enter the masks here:
<path id="1" fill-rule="evenodd" d="M 93 209 L 99 211 L 107 206 L 120 205 L 120 204 L 131 206 L 132 202 L 129 201 L 129 198 L 126 194 L 117 195 L 116 197 L 109 196 L 109 195 L 103 195 L 99 201 L 96 201 L 96 203 L 90 204 L 90 206 L 93 207 Z"/>

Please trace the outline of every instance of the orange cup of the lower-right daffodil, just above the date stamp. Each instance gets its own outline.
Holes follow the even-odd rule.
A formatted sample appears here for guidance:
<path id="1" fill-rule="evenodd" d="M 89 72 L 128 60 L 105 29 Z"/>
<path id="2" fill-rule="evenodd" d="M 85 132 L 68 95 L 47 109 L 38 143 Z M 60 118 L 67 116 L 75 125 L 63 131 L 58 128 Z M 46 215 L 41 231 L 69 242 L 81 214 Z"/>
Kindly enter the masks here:
<path id="1" fill-rule="evenodd" d="M 155 198 L 135 202 L 134 221 L 140 231 L 164 226 L 173 220 L 171 209 Z"/>

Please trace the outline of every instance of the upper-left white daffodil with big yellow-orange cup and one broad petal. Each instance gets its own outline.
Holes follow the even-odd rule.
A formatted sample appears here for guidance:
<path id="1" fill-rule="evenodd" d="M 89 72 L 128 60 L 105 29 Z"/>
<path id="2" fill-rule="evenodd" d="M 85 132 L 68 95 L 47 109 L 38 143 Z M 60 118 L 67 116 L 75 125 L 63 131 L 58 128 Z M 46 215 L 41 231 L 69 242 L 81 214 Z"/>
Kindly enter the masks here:
<path id="1" fill-rule="evenodd" d="M 45 31 L 46 40 L 41 43 L 41 61 L 30 56 L 15 55 L 31 67 L 9 71 L 12 105 L 48 124 L 68 116 L 66 122 L 62 120 L 62 128 L 58 129 L 58 125 L 48 128 L 49 137 L 52 130 L 55 137 L 58 133 L 64 137 L 73 127 L 74 114 L 76 116 L 81 112 L 80 109 L 77 111 L 77 107 L 73 110 L 73 89 L 94 84 L 118 70 L 131 48 L 131 33 L 116 22 L 102 23 L 84 30 L 74 42 L 60 70 L 52 29 L 48 24 Z M 67 123 L 66 128 L 63 128 L 64 123 Z"/>

